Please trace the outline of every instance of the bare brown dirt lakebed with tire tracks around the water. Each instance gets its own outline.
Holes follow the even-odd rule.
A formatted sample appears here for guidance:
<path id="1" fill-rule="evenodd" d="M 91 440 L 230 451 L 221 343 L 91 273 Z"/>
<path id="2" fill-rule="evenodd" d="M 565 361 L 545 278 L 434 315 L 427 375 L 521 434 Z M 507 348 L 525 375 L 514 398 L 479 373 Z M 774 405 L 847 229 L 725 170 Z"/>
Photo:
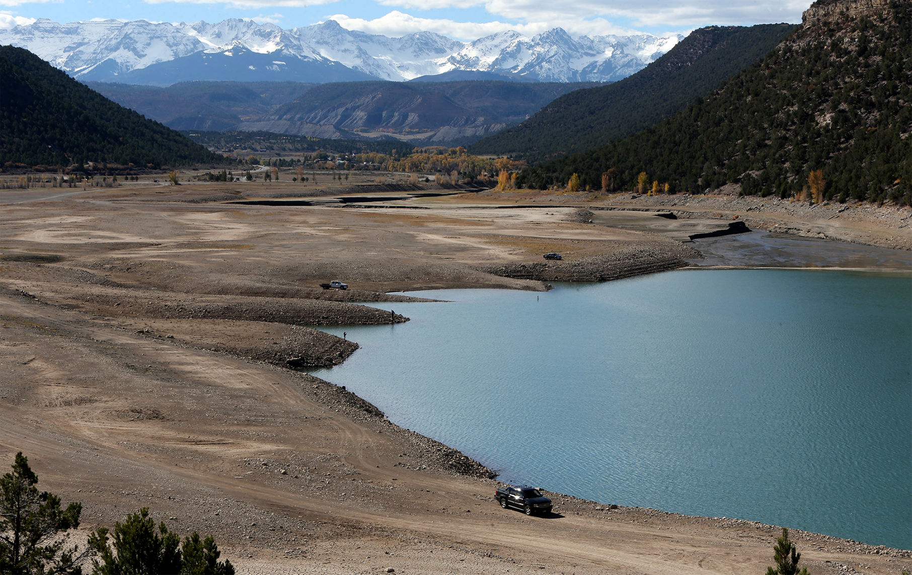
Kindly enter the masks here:
<path id="1" fill-rule="evenodd" d="M 83 502 L 86 528 L 149 507 L 181 534 L 215 535 L 243 573 L 772 564 L 778 529 L 747 521 L 557 494 L 546 518 L 503 510 L 480 464 L 284 366 L 357 346 L 303 325 L 407 321 L 354 303 L 403 299 L 387 291 L 541 290 L 562 262 L 541 279 L 491 271 L 554 250 L 606 273 L 623 253 L 679 259 L 677 241 L 542 207 L 565 198 L 275 208 L 180 201 L 184 190 L 158 201 L 157 190 L 16 192 L 0 213 L 0 462 L 23 451 L 39 487 Z M 318 288 L 329 279 L 352 289 Z M 908 551 L 792 535 L 815 575 L 912 570 Z"/>

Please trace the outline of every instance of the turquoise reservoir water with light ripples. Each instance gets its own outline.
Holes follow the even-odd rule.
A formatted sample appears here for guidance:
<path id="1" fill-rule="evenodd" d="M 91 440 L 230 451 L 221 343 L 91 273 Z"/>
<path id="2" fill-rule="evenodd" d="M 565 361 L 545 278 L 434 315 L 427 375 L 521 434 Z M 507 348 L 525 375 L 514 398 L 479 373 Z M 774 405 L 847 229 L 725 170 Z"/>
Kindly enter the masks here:
<path id="1" fill-rule="evenodd" d="M 315 375 L 506 481 L 912 549 L 912 279 L 684 270 L 422 295 L 451 302 L 327 330 L 362 349 Z"/>

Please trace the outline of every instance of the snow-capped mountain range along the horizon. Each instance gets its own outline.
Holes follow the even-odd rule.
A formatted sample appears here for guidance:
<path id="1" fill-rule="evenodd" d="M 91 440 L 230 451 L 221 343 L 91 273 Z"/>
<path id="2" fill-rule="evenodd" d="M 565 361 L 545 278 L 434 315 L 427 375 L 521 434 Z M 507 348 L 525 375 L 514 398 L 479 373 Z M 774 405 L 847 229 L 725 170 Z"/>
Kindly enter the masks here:
<path id="1" fill-rule="evenodd" d="M 24 47 L 79 80 L 150 85 L 183 79 L 401 81 L 452 71 L 612 81 L 646 67 L 681 38 L 572 37 L 554 28 L 532 37 L 510 31 L 460 42 L 432 32 L 398 38 L 367 34 L 333 20 L 285 30 L 240 19 L 218 24 L 40 19 L 0 29 L 0 44 Z"/>

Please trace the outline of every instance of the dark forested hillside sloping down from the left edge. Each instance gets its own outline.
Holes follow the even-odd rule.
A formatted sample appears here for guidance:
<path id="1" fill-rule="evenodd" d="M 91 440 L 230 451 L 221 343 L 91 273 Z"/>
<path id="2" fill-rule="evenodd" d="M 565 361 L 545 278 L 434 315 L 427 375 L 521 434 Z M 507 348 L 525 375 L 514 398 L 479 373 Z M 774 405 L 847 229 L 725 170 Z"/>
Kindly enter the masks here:
<path id="1" fill-rule="evenodd" d="M 157 168 L 223 159 L 111 102 L 23 48 L 0 46 L 0 87 L 4 169 L 88 162 Z"/>

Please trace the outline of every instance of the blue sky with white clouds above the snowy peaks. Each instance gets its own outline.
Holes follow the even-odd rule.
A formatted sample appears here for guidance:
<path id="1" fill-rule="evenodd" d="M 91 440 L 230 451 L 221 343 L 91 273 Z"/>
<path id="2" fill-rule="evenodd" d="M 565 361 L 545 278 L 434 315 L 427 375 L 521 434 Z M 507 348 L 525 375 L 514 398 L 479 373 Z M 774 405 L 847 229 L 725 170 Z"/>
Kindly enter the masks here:
<path id="1" fill-rule="evenodd" d="M 430 30 L 461 40 L 555 26 L 572 36 L 687 34 L 700 26 L 801 22 L 811 0 L 0 0 L 0 27 L 36 18 L 219 22 L 247 18 L 283 28 L 335 19 L 349 29 L 403 36 Z"/>

